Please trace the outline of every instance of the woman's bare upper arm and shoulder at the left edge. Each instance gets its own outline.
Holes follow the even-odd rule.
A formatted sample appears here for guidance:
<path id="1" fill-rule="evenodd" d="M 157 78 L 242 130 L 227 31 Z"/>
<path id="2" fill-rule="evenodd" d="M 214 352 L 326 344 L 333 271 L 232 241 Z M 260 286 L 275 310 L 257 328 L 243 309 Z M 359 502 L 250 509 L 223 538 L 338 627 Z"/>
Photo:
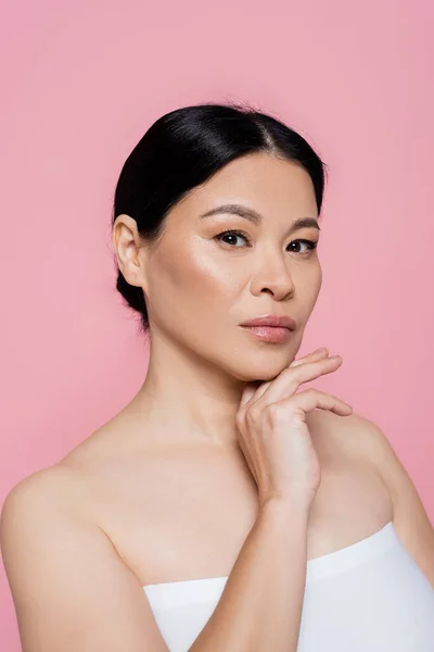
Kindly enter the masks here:
<path id="1" fill-rule="evenodd" d="M 140 582 L 78 509 L 78 491 L 67 469 L 51 467 L 3 504 L 0 543 L 23 652 L 167 652 Z"/>

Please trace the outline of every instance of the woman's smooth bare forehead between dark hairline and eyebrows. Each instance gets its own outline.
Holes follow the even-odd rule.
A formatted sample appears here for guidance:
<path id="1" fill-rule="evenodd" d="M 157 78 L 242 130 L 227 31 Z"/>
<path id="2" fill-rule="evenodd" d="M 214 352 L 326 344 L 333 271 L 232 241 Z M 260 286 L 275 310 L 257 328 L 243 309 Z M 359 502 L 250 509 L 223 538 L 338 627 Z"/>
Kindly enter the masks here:
<path id="1" fill-rule="evenodd" d="M 318 215 L 314 185 L 297 163 L 266 153 L 231 161 L 182 201 L 183 210 L 197 215 L 220 203 L 240 202 L 266 215 L 269 212 L 299 217 Z M 181 208 L 181 206 L 180 206 Z"/>

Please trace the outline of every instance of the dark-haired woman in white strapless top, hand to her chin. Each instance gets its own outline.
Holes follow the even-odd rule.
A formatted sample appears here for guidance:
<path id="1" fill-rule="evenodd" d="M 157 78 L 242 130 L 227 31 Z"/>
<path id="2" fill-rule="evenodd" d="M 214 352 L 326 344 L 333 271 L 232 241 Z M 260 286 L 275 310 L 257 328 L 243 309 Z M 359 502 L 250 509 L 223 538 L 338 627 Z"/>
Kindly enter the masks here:
<path id="1" fill-rule="evenodd" d="M 434 532 L 392 447 L 295 360 L 324 166 L 278 120 L 188 106 L 117 184 L 117 289 L 151 342 L 131 402 L 8 496 L 25 652 L 427 652 Z M 253 321 L 253 322 L 252 322 Z"/>

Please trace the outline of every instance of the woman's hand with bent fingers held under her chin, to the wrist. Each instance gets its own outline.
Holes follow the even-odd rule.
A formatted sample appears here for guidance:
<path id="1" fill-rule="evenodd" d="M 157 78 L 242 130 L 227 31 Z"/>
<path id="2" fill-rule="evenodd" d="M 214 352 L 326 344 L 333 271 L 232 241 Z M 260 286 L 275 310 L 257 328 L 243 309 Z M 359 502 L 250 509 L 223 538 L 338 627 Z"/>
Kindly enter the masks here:
<path id="1" fill-rule="evenodd" d="M 259 505 L 269 500 L 301 501 L 310 507 L 321 481 L 306 414 L 330 410 L 348 416 L 353 409 L 337 397 L 310 388 L 296 393 L 303 383 L 335 372 L 340 355 L 327 349 L 294 360 L 273 380 L 248 384 L 235 416 L 239 444 L 258 486 Z"/>

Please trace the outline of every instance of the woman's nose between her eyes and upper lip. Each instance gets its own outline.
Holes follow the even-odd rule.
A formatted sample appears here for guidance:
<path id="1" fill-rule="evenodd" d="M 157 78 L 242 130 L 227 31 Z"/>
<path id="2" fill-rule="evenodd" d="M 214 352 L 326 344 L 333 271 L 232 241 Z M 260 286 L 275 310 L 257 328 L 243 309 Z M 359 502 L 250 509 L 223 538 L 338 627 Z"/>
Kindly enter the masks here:
<path id="1" fill-rule="evenodd" d="M 284 299 L 293 292 L 294 281 L 290 273 L 288 258 L 276 253 L 276 250 L 264 256 L 252 278 L 251 291 L 255 296 L 261 292 L 270 292 L 277 300 Z"/>

